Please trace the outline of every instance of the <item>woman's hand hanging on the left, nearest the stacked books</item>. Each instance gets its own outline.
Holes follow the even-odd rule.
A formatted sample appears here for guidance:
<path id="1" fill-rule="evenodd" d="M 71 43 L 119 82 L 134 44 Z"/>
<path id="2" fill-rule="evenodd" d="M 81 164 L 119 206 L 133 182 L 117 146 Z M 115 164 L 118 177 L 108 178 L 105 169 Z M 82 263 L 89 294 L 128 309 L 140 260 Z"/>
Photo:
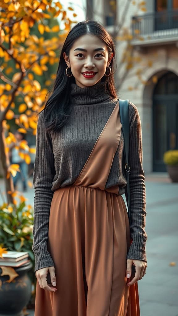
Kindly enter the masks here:
<path id="1" fill-rule="evenodd" d="M 50 277 L 48 279 L 47 282 L 47 275 L 48 272 L 50 274 Z M 56 292 L 57 289 L 53 288 L 51 286 L 56 286 L 56 277 L 55 277 L 55 273 L 54 273 L 54 266 L 51 267 L 46 267 L 46 268 L 42 268 L 39 269 L 35 272 L 35 276 L 38 280 L 38 283 L 40 284 L 41 289 L 50 291 L 50 292 Z"/>

